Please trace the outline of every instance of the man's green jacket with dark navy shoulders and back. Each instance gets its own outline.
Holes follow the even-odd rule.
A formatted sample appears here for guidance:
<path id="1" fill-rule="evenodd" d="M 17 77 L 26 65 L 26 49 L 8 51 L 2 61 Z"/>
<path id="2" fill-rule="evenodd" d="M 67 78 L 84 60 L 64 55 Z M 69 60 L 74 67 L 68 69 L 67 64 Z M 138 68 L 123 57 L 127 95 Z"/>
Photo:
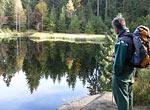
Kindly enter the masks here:
<path id="1" fill-rule="evenodd" d="M 115 44 L 115 59 L 113 65 L 113 73 L 115 75 L 131 73 L 134 70 L 134 67 L 130 65 L 134 53 L 134 46 L 129 35 L 130 32 L 126 29 L 121 30 L 118 34 L 118 41 Z"/>

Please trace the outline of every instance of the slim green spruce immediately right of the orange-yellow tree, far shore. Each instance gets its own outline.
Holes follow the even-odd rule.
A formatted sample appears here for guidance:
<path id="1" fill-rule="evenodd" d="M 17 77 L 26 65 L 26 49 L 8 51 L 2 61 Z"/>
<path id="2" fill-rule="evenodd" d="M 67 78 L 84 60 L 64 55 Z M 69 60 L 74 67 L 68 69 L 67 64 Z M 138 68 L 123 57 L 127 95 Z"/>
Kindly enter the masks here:
<path id="1" fill-rule="evenodd" d="M 55 8 L 53 7 L 49 17 L 48 30 L 55 32 L 56 31 L 56 13 Z"/>

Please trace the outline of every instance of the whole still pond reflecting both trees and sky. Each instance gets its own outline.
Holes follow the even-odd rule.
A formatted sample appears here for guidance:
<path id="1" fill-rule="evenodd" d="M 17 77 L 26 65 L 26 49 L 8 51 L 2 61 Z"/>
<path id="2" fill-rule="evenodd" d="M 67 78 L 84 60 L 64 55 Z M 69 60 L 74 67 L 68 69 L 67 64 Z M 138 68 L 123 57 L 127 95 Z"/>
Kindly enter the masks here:
<path id="1" fill-rule="evenodd" d="M 0 41 L 0 110 L 56 110 L 97 93 L 98 44 Z"/>

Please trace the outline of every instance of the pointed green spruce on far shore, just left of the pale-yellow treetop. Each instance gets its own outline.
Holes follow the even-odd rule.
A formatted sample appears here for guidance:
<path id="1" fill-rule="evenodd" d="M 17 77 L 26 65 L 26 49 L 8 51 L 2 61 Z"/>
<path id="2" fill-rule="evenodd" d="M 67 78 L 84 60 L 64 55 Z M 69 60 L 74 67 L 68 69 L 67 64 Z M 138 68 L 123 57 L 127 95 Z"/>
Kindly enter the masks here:
<path id="1" fill-rule="evenodd" d="M 65 7 L 62 7 L 62 11 L 59 17 L 59 21 L 58 21 L 58 32 L 66 32 L 66 14 L 65 14 Z"/>

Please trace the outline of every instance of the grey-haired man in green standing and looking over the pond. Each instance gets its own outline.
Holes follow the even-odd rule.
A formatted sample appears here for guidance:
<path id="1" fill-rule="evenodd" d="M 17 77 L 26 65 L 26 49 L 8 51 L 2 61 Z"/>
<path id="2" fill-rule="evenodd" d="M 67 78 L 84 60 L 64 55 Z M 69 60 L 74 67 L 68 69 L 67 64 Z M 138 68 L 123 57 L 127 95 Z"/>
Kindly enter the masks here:
<path id="1" fill-rule="evenodd" d="M 118 110 L 133 110 L 134 68 L 129 64 L 134 53 L 131 33 L 126 27 L 124 18 L 114 18 L 112 25 L 118 35 L 114 53 L 112 90 Z"/>

